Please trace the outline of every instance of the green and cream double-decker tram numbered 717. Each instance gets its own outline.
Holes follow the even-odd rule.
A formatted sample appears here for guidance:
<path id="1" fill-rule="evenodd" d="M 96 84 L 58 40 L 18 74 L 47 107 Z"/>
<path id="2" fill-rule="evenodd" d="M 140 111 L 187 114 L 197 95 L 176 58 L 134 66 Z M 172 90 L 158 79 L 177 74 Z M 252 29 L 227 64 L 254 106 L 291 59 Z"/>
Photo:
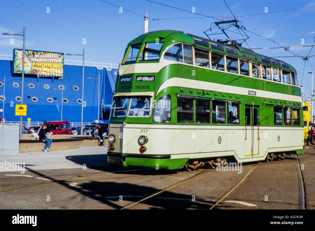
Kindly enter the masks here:
<path id="1" fill-rule="evenodd" d="M 180 31 L 128 44 L 111 109 L 109 164 L 180 169 L 201 159 L 304 152 L 294 67 Z"/>

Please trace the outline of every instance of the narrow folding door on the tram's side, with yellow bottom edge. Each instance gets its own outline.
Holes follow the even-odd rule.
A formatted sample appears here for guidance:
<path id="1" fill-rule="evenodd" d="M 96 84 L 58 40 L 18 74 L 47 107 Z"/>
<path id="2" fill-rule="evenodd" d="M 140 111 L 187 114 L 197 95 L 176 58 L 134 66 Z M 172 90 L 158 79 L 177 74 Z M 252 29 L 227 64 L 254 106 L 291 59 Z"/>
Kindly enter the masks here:
<path id="1" fill-rule="evenodd" d="M 259 156 L 259 107 L 245 106 L 245 157 Z"/>

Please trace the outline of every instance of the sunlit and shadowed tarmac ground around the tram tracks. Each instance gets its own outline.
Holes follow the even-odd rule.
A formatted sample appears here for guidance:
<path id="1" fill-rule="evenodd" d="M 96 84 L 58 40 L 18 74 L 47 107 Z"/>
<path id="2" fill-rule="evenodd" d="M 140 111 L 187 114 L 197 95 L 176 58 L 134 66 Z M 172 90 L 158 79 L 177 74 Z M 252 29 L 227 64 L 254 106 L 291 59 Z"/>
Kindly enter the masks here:
<path id="1" fill-rule="evenodd" d="M 255 169 L 213 209 L 298 209 L 300 173 L 296 155 L 242 165 L 242 172 L 198 169 L 123 168 L 107 163 L 107 147 L 0 155 L 0 162 L 25 162 L 25 173 L 0 172 L 1 209 L 206 209 Z M 299 157 L 309 209 L 315 209 L 315 149 Z M 85 166 L 86 165 L 86 166 Z M 194 178 L 187 180 L 188 178 Z M 186 180 L 186 181 L 185 181 Z"/>

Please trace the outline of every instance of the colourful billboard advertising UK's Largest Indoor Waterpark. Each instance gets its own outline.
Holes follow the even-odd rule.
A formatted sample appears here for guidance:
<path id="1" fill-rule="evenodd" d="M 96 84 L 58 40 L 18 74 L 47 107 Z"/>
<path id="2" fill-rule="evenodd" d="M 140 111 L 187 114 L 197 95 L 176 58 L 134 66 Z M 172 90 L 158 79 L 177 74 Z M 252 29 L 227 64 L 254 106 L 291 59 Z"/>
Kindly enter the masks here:
<path id="1" fill-rule="evenodd" d="M 23 50 L 13 50 L 13 74 L 22 73 Z M 25 50 L 24 73 L 37 77 L 63 77 L 64 53 Z"/>

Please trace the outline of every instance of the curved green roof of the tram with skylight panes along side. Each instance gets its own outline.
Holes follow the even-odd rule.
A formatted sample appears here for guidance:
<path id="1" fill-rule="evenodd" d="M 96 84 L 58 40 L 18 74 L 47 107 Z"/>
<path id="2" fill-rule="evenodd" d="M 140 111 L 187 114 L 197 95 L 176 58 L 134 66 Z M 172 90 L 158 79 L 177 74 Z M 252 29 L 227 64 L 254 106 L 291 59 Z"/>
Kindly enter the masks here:
<path id="1" fill-rule="evenodd" d="M 221 53 L 225 53 L 232 56 L 238 56 L 239 58 L 248 59 L 253 62 L 259 62 L 265 65 L 272 65 L 274 67 L 280 67 L 287 70 L 295 71 L 295 68 L 292 67 L 290 64 L 270 58 L 264 55 L 260 55 L 255 53 L 253 50 L 237 46 L 237 45 L 228 45 L 223 44 L 221 42 L 215 42 L 209 39 L 205 39 L 199 36 L 184 34 L 183 31 L 178 30 L 157 30 L 151 31 L 146 34 L 142 34 L 135 38 L 134 40 L 130 41 L 128 46 L 131 44 L 142 43 L 144 41 L 150 40 L 150 38 L 155 41 L 157 38 L 160 42 L 183 42 L 187 44 L 194 45 L 198 48 L 206 48 L 213 51 L 218 51 Z"/>

